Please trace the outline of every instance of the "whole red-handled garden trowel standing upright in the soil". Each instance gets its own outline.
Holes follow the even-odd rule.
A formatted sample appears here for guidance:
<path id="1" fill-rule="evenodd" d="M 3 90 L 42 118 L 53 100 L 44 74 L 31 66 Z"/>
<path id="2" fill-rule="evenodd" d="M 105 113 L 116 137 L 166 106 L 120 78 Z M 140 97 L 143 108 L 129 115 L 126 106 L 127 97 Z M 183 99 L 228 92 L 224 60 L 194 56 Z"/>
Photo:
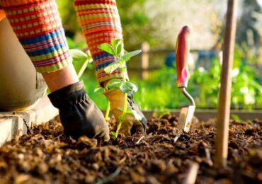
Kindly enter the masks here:
<path id="1" fill-rule="evenodd" d="M 181 113 L 178 117 L 178 131 L 180 134 L 182 132 L 189 132 L 191 121 L 195 112 L 195 101 L 186 91 L 189 79 L 187 66 L 190 50 L 189 36 L 190 29 L 188 26 L 184 26 L 178 34 L 176 41 L 176 71 L 178 88 L 181 88 L 183 95 L 190 101 L 190 105 L 181 108 Z"/>

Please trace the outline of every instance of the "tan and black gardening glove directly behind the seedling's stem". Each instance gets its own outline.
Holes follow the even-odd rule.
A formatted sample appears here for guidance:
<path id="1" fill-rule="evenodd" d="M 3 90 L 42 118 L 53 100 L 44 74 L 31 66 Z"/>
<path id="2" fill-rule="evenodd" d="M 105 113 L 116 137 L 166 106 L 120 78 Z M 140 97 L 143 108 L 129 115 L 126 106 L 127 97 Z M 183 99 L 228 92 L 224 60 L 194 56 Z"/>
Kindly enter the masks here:
<path id="1" fill-rule="evenodd" d="M 118 116 L 122 115 L 123 111 L 118 108 L 124 107 L 124 93 L 120 89 L 109 89 L 103 93 L 106 98 L 110 101 L 110 108 L 113 111 L 115 119 L 118 120 Z M 135 110 L 141 117 L 142 120 L 136 120 L 133 114 L 127 114 L 126 120 L 123 122 L 120 132 L 125 135 L 131 135 L 133 132 L 144 133 L 147 129 L 147 119 L 144 117 L 142 111 L 139 109 L 137 103 L 133 100 L 132 93 L 128 94 L 127 97 L 127 107 L 131 107 Z"/>

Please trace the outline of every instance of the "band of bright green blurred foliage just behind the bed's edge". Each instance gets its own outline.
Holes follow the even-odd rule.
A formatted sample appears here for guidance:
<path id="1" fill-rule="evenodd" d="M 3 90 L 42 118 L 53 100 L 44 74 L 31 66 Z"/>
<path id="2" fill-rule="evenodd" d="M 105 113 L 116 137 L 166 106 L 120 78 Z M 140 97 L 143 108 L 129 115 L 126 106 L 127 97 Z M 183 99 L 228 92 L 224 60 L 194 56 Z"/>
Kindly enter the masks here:
<path id="1" fill-rule="evenodd" d="M 237 60 L 241 67 L 235 67 L 232 71 L 232 108 L 234 109 L 261 109 L 262 87 L 254 75 L 254 68 L 247 66 L 241 60 Z M 196 69 L 190 76 L 188 92 L 195 99 L 197 108 L 217 108 L 220 90 L 220 62 L 212 60 L 212 67 L 207 71 L 202 67 Z M 86 84 L 89 96 L 96 102 L 99 108 L 105 110 L 106 98 L 102 91 L 93 92 L 98 85 L 93 70 L 87 71 L 81 79 Z M 135 100 L 143 110 L 177 109 L 188 105 L 188 100 L 176 86 L 176 70 L 163 67 L 159 71 L 150 74 L 149 79 L 142 81 L 132 79 L 139 86 L 135 94 Z"/>

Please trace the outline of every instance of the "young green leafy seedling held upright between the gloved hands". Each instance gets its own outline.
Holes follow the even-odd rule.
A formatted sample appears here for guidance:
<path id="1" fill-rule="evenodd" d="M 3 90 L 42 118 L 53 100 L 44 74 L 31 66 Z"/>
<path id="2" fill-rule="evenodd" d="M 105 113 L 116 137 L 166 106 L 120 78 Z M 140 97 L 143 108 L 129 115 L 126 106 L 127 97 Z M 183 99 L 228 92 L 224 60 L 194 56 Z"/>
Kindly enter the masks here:
<path id="1" fill-rule="evenodd" d="M 124 107 L 119 108 L 123 113 L 122 115 L 118 116 L 118 127 L 115 132 L 112 132 L 113 138 L 116 139 L 118 137 L 118 133 L 120 130 L 121 125 L 126 120 L 127 114 L 133 114 L 137 120 L 141 120 L 142 117 L 135 112 L 135 110 L 132 110 L 132 108 L 127 107 L 127 94 L 132 92 L 137 92 L 138 87 L 137 84 L 133 81 L 129 81 L 127 77 L 127 67 L 126 62 L 128 62 L 131 57 L 136 56 L 141 52 L 141 50 L 135 50 L 132 52 L 126 52 L 123 47 L 123 40 L 112 40 L 111 44 L 103 43 L 101 45 L 98 45 L 98 48 L 101 50 L 104 50 L 108 52 L 109 54 L 112 54 L 115 56 L 118 60 L 109 64 L 108 67 L 106 67 L 104 70 L 107 74 L 112 74 L 113 71 L 116 69 L 119 69 L 122 71 L 123 79 L 112 79 L 108 82 L 106 85 L 106 89 L 118 89 L 120 88 L 121 91 L 123 91 L 125 99 L 124 99 Z"/>

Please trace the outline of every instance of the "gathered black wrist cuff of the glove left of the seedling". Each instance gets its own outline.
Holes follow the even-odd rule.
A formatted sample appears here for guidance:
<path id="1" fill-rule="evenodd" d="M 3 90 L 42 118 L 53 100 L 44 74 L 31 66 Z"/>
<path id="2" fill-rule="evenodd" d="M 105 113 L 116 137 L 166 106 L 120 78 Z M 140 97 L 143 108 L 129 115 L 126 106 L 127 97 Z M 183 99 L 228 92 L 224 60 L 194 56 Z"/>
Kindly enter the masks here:
<path id="1" fill-rule="evenodd" d="M 70 105 L 78 103 L 79 101 L 84 99 L 86 95 L 87 94 L 84 88 L 84 83 L 83 81 L 79 81 L 50 93 L 48 95 L 48 98 L 50 99 L 52 105 L 55 106 L 55 108 L 60 109 L 62 107 L 70 107 Z"/>

